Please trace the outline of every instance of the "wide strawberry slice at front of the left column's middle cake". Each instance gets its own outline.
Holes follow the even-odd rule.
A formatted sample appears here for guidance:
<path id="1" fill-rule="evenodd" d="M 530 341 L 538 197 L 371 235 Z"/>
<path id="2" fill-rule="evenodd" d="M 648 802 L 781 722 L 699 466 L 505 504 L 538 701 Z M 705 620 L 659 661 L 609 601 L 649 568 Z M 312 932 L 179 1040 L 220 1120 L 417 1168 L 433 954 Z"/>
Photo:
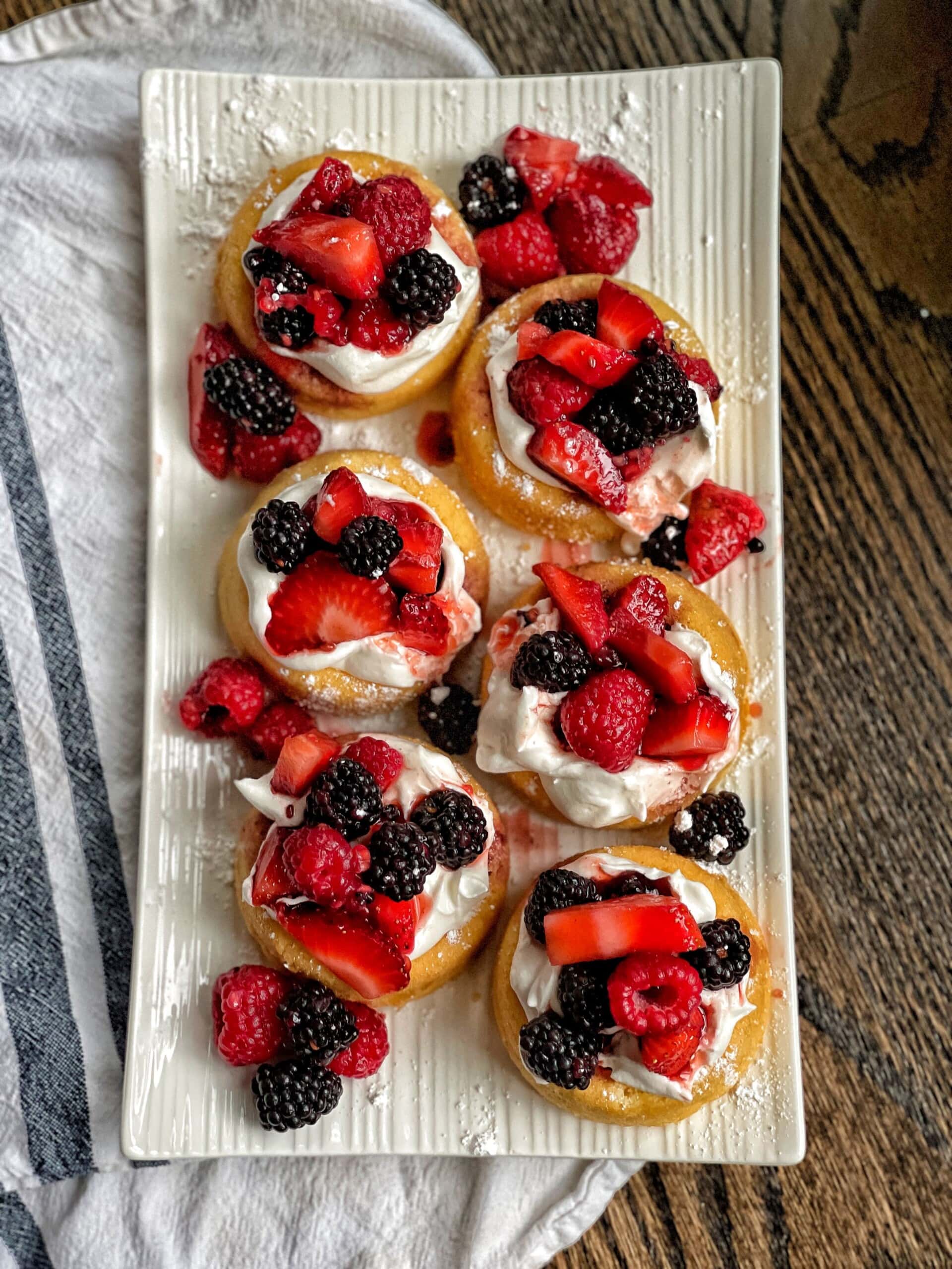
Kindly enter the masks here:
<path id="1" fill-rule="evenodd" d="M 383 577 L 358 577 L 335 556 L 303 560 L 268 600 L 264 632 L 275 656 L 293 656 L 396 629 L 396 596 Z"/>

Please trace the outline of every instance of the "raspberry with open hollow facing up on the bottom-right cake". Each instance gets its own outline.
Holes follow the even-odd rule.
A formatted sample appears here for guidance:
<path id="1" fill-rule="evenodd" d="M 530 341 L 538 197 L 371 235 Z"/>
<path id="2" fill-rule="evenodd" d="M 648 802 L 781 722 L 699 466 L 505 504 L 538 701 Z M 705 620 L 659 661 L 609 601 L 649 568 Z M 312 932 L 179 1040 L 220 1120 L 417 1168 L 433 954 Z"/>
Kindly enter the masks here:
<path id="1" fill-rule="evenodd" d="M 608 980 L 612 1016 L 633 1036 L 679 1030 L 701 1000 L 701 976 L 666 952 L 633 952 Z"/>

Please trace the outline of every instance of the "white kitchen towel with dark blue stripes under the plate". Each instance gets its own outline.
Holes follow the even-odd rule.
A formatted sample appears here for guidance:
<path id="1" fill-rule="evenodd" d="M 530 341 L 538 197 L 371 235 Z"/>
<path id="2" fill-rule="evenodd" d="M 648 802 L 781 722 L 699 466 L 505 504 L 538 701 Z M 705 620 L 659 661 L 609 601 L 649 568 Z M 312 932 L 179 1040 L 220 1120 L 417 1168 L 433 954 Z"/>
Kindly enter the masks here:
<path id="1" fill-rule="evenodd" d="M 0 1263 L 541 1265 L 635 1165 L 119 1152 L 156 65 L 493 74 L 426 0 L 96 0 L 0 34 Z"/>

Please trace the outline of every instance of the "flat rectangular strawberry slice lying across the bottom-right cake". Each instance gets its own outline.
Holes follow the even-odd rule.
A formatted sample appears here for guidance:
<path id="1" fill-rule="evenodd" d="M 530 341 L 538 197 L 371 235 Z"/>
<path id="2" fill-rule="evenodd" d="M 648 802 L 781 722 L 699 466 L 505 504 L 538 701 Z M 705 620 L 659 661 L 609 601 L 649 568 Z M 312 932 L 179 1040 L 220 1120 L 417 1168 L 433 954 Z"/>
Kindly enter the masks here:
<path id="1" fill-rule="evenodd" d="M 678 956 L 704 945 L 688 907 L 669 895 L 623 895 L 548 912 L 546 952 L 552 964 L 613 961 L 631 952 Z"/>

